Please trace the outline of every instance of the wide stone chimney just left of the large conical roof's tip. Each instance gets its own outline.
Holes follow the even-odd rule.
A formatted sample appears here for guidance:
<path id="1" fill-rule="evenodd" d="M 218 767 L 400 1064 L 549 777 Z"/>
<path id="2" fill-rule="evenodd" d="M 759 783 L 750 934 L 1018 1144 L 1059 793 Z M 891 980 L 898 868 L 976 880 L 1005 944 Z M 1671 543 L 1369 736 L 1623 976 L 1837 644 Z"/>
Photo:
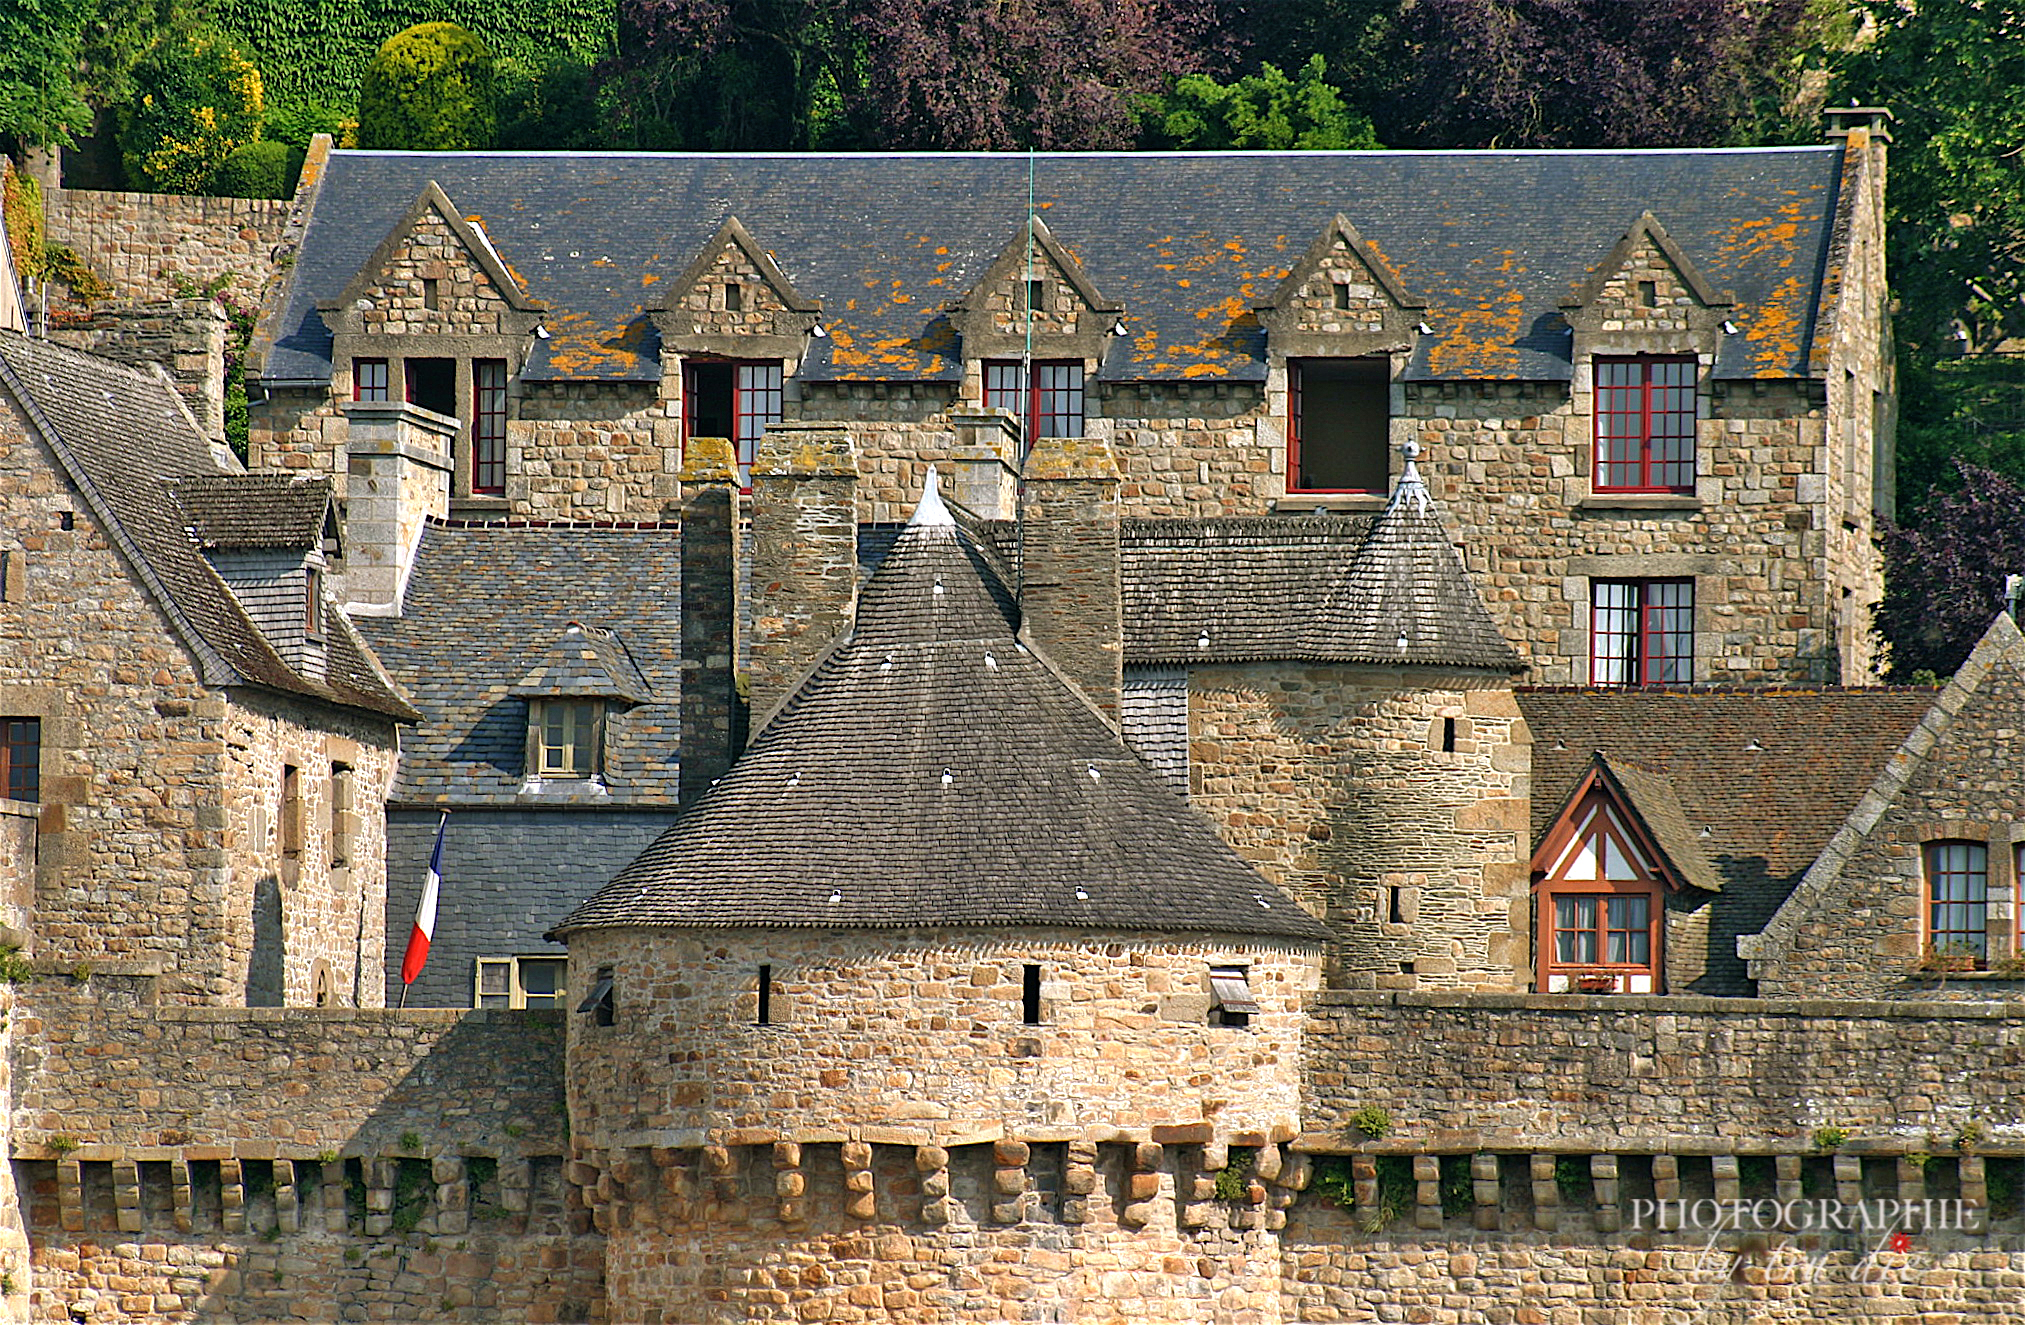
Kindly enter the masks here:
<path id="1" fill-rule="evenodd" d="M 859 594 L 859 454 L 834 423 L 772 423 L 751 474 L 747 671 L 759 723 L 850 624 Z"/>

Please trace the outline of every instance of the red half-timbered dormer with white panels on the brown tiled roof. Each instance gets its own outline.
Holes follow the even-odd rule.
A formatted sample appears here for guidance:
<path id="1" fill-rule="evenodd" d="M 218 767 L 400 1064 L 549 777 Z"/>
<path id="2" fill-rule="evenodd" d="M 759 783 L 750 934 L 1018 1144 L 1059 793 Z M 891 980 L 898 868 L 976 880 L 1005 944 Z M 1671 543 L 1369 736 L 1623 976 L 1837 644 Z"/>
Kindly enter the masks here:
<path id="1" fill-rule="evenodd" d="M 1669 928 L 1693 914 L 1669 924 L 1669 900 L 1721 887 L 1673 782 L 1598 754 L 1533 851 L 1535 987 L 1665 993 Z"/>

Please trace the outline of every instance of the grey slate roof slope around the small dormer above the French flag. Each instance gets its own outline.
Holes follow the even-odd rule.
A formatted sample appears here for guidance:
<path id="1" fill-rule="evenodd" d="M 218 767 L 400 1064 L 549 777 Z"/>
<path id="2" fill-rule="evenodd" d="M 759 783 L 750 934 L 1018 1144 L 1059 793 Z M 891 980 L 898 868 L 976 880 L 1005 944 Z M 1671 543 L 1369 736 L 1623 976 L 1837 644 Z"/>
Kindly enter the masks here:
<path id="1" fill-rule="evenodd" d="M 425 719 L 395 800 L 531 804 L 520 685 L 571 622 L 612 630 L 646 703 L 608 719 L 603 792 L 551 782 L 537 804 L 674 802 L 680 723 L 680 537 L 668 527 L 431 523 L 401 616 L 362 616 Z"/>

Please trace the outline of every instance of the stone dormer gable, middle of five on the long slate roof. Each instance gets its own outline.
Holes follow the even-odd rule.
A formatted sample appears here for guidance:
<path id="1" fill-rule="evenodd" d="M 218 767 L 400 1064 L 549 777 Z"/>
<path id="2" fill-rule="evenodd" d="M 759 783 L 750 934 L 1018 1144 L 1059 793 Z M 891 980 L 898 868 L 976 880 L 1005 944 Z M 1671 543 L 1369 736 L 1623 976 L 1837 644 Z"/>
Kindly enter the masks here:
<path id="1" fill-rule="evenodd" d="M 950 310 L 970 359 L 1021 357 L 1031 324 L 1035 359 L 1098 361 L 1120 318 L 1124 304 L 1098 292 L 1041 217 L 1019 229 Z"/>

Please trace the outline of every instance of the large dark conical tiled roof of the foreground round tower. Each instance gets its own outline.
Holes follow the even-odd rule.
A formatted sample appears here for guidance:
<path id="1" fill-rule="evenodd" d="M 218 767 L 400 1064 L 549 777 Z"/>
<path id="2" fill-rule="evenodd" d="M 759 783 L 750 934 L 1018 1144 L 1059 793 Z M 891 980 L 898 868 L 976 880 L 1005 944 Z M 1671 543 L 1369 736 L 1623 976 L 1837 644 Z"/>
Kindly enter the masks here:
<path id="1" fill-rule="evenodd" d="M 557 934 L 603 926 L 1324 936 L 1015 638 L 952 523 L 901 535 L 853 634 Z"/>

